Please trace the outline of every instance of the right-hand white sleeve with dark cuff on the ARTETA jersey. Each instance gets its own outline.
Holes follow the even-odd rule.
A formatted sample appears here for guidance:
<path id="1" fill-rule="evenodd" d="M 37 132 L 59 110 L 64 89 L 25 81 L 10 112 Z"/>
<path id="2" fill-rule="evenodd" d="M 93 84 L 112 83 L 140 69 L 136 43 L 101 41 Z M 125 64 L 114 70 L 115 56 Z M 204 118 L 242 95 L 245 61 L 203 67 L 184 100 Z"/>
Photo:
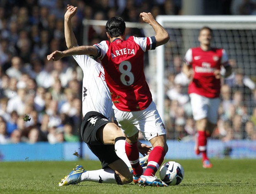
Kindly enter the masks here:
<path id="1" fill-rule="evenodd" d="M 140 45 L 141 49 L 146 52 L 147 50 L 156 49 L 156 38 L 154 36 L 151 37 L 135 37 L 133 36 L 133 40 L 135 43 Z"/>

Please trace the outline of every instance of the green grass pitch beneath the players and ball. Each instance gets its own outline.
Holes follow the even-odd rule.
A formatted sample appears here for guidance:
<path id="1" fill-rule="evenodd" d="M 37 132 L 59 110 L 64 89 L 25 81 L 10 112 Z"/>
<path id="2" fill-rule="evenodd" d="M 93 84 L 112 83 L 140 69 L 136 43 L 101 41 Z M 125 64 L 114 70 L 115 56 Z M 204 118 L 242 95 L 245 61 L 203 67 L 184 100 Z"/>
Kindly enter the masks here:
<path id="1" fill-rule="evenodd" d="M 99 169 L 99 161 L 41 161 L 1 162 L 0 193 L 83 193 L 83 194 L 255 194 L 255 159 L 212 159 L 213 168 L 204 169 L 201 160 L 175 160 L 185 170 L 180 185 L 169 187 L 139 187 L 128 185 L 81 182 L 78 185 L 59 187 L 64 175 L 77 164 L 86 170 Z M 166 161 L 165 161 L 166 162 Z M 156 175 L 159 175 L 157 172 Z"/>

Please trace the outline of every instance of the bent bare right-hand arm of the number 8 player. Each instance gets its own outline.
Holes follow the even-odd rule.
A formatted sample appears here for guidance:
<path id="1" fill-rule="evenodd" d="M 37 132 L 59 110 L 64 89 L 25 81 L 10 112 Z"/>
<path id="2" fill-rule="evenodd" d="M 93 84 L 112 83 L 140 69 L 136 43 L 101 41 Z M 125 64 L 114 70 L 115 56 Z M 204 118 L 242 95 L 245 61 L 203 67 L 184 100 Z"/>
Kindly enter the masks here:
<path id="1" fill-rule="evenodd" d="M 142 12 L 140 13 L 140 17 L 154 29 L 157 47 L 168 42 L 170 39 L 168 32 L 154 19 L 151 13 Z"/>

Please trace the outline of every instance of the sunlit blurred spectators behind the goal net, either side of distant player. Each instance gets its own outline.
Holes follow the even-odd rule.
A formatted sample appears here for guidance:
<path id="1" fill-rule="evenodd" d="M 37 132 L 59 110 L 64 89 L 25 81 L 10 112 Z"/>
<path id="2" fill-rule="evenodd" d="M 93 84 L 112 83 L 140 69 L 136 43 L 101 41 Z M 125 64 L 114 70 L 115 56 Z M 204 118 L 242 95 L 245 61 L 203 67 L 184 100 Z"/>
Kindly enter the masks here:
<path id="1" fill-rule="evenodd" d="M 178 57 L 179 58 L 179 57 Z M 181 72 L 182 60 L 176 59 L 176 73 L 165 80 L 165 122 L 169 139 L 194 140 L 196 126 L 192 118 L 187 87 L 190 80 Z M 212 138 L 223 141 L 256 140 L 256 84 L 229 60 L 233 73 L 221 78 L 217 128 Z"/>

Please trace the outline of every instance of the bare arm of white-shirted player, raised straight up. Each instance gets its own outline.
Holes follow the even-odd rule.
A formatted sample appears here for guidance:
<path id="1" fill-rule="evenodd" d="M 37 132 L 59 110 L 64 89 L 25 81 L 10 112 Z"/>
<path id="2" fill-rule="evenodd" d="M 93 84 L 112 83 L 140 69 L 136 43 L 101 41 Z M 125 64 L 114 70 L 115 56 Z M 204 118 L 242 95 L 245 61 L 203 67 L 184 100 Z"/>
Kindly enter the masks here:
<path id="1" fill-rule="evenodd" d="M 66 40 L 66 46 L 68 48 L 78 46 L 76 37 L 73 33 L 71 19 L 76 14 L 77 7 L 68 5 L 66 13 L 64 15 L 64 34 Z"/>

